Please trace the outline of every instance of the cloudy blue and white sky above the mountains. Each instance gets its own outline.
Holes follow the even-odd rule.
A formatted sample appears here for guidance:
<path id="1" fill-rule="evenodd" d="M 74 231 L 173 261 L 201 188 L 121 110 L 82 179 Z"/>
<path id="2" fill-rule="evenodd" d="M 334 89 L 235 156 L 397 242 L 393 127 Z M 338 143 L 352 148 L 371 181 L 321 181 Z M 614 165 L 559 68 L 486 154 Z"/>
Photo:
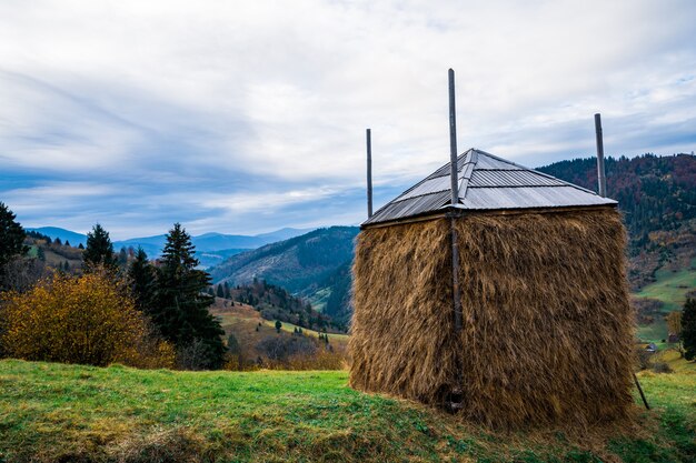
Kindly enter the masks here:
<path id="1" fill-rule="evenodd" d="M 366 219 L 458 147 L 696 150 L 696 2 L 0 1 L 0 201 L 113 239 Z"/>

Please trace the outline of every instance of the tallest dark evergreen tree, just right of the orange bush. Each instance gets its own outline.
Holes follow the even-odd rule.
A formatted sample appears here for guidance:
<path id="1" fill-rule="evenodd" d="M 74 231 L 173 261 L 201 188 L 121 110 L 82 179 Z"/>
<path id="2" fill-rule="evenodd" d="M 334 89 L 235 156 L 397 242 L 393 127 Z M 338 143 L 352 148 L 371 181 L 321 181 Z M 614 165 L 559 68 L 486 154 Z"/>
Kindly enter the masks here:
<path id="1" fill-rule="evenodd" d="M 157 306 L 152 320 L 161 334 L 179 350 L 195 342 L 202 343 L 200 368 L 222 365 L 225 331 L 208 308 L 212 298 L 206 293 L 210 285 L 208 273 L 197 270 L 196 248 L 180 223 L 167 234 L 167 243 L 158 269 Z"/>

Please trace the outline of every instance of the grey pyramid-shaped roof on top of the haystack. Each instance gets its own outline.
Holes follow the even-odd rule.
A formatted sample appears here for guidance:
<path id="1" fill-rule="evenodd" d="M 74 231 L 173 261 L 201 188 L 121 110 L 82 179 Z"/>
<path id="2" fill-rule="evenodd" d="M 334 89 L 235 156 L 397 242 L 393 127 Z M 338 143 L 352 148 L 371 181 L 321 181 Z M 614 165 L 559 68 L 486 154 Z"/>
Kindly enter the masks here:
<path id="1" fill-rule="evenodd" d="M 617 204 L 590 190 L 470 149 L 457 158 L 459 202 L 450 204 L 449 162 L 379 209 L 364 225 L 441 211 Z"/>

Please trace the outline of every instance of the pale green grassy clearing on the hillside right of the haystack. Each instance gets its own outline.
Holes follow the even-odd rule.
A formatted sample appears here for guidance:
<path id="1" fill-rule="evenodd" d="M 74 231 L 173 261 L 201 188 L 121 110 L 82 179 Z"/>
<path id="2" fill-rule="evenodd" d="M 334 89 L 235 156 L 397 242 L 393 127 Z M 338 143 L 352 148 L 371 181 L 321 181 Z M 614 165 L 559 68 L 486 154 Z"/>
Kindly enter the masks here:
<path id="1" fill-rule="evenodd" d="M 682 310 L 686 302 L 686 293 L 696 290 L 696 266 L 692 262 L 690 268 L 672 271 L 660 269 L 655 274 L 657 281 L 643 288 L 635 293 L 636 298 L 656 299 L 663 302 L 662 313 L 667 314 L 675 310 Z M 662 318 L 649 325 L 638 326 L 638 336 L 644 341 L 659 342 L 667 339 L 667 324 Z"/>

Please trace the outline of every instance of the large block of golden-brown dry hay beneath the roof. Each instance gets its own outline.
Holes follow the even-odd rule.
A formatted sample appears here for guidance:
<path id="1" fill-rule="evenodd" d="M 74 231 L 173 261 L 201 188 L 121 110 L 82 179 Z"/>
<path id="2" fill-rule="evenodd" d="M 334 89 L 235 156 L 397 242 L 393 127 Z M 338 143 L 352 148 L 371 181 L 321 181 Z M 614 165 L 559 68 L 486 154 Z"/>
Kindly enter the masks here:
<path id="1" fill-rule="evenodd" d="M 614 209 L 471 214 L 365 230 L 355 262 L 351 386 L 441 405 L 496 427 L 623 419 L 634 320 Z M 459 379 L 458 379 L 459 376 Z"/>

